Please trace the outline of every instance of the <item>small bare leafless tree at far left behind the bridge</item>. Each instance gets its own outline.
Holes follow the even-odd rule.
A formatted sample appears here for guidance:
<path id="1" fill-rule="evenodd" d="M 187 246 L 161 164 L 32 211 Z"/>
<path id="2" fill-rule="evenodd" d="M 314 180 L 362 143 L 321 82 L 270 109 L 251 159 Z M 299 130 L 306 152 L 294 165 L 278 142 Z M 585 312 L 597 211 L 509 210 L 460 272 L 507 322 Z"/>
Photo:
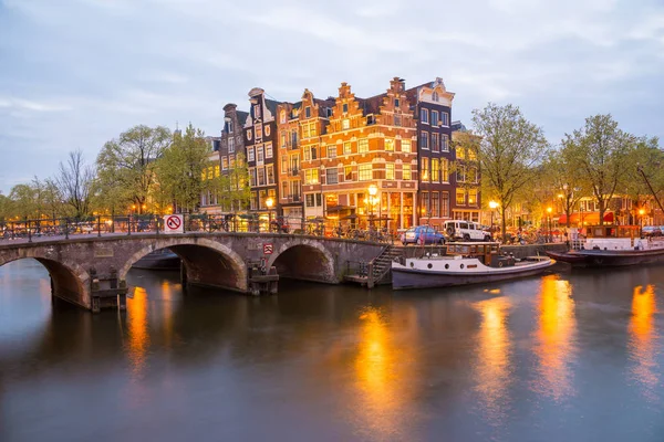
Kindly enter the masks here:
<path id="1" fill-rule="evenodd" d="M 90 214 L 94 178 L 94 169 L 85 165 L 81 150 L 71 151 L 66 164 L 60 162 L 55 182 L 63 201 L 76 218 Z"/>

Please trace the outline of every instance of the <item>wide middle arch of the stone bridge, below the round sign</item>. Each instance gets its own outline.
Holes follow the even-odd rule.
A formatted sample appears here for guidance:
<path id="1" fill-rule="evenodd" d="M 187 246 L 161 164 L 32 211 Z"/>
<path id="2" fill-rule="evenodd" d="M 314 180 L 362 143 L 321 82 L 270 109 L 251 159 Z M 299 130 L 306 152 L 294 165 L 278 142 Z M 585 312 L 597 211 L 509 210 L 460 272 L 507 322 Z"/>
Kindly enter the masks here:
<path id="1" fill-rule="evenodd" d="M 126 281 L 136 261 L 160 249 L 169 249 L 183 260 L 188 283 L 247 292 L 247 265 L 242 257 L 229 246 L 205 238 L 159 239 L 133 253 L 120 270 L 118 278 Z"/>

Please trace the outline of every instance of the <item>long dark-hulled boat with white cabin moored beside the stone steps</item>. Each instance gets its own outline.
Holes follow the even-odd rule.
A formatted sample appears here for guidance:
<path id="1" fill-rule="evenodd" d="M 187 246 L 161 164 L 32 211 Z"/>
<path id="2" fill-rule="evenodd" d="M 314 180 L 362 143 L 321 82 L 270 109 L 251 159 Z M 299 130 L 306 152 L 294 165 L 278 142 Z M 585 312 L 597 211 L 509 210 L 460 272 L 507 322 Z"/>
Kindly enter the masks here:
<path id="1" fill-rule="evenodd" d="M 422 256 L 392 263 L 392 287 L 433 288 L 533 276 L 556 263 L 548 256 L 516 260 L 501 255 L 495 242 L 457 242 L 423 250 Z M 446 249 L 446 250 L 445 250 Z"/>

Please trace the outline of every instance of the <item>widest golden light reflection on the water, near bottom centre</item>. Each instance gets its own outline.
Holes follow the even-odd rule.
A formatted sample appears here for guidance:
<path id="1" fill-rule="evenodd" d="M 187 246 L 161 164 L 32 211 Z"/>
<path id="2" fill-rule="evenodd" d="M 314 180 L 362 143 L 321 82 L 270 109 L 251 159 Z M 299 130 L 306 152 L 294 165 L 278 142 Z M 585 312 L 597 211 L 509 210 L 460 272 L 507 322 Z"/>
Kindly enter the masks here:
<path id="1" fill-rule="evenodd" d="M 360 316 L 360 351 L 355 360 L 360 406 L 371 439 L 393 439 L 402 427 L 402 408 L 406 402 L 402 383 L 403 358 L 397 361 L 391 327 L 377 307 L 366 307 Z M 401 362 L 401 364 L 400 364 Z"/>

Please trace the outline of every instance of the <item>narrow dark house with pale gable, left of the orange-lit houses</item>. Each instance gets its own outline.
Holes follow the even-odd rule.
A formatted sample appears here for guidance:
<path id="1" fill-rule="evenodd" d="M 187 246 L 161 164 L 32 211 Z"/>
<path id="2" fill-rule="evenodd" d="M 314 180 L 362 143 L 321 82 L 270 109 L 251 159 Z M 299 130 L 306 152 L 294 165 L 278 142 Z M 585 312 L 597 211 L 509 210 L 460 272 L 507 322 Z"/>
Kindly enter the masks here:
<path id="1" fill-rule="evenodd" d="M 243 135 L 251 186 L 250 210 L 268 218 L 268 198 L 277 200 L 277 124 L 278 102 L 266 98 L 260 87 L 249 91 L 250 112 Z"/>

